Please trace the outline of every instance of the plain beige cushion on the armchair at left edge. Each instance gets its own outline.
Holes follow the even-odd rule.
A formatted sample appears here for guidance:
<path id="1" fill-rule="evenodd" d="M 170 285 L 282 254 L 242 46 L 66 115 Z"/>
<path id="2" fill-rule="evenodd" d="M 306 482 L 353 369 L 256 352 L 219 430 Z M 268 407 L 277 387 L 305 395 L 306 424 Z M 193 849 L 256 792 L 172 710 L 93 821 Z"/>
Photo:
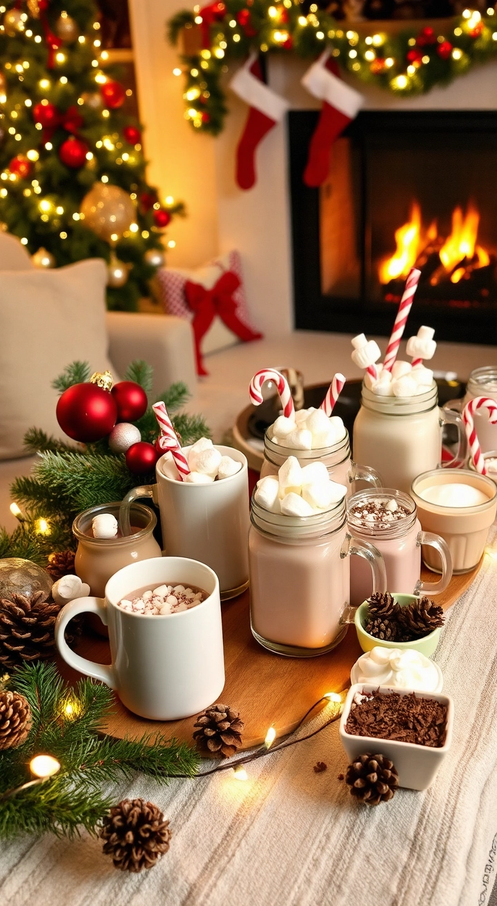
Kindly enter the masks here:
<path id="1" fill-rule="evenodd" d="M 25 456 L 33 426 L 67 440 L 51 382 L 76 359 L 111 369 L 105 327 L 107 268 L 91 258 L 53 270 L 0 273 L 0 459 Z"/>

